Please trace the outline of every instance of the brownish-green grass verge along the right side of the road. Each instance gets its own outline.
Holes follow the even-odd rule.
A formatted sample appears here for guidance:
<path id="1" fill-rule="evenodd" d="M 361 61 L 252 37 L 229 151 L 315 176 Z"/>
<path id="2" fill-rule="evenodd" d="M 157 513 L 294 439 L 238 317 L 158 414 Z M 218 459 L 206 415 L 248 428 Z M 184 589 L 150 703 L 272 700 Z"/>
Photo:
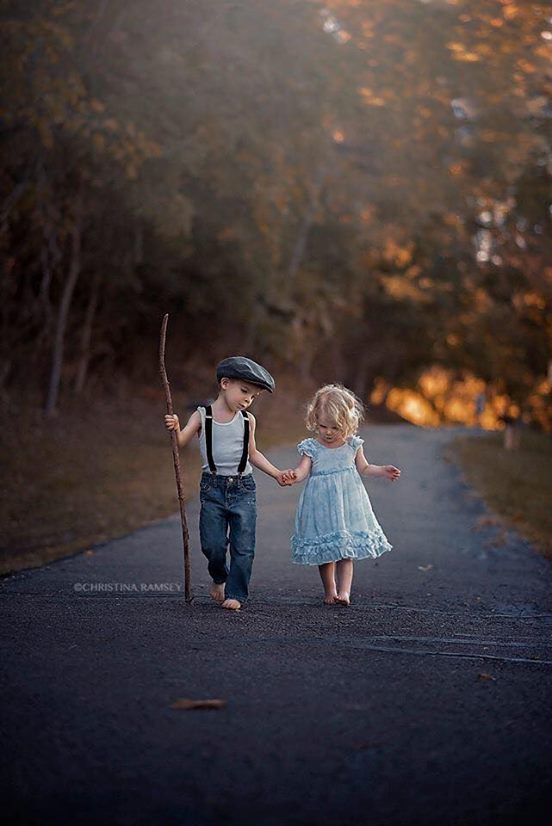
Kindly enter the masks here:
<path id="1" fill-rule="evenodd" d="M 503 434 L 461 437 L 451 445 L 466 479 L 507 524 L 552 559 L 552 437 L 523 431 L 505 450 Z"/>

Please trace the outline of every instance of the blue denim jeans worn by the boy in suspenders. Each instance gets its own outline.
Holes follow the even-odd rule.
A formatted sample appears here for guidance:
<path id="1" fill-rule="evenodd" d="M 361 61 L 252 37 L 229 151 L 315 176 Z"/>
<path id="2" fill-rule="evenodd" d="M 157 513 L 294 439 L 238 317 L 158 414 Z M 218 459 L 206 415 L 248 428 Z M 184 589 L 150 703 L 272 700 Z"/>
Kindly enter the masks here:
<path id="1" fill-rule="evenodd" d="M 199 536 L 213 582 L 226 583 L 226 599 L 245 602 L 255 556 L 257 503 L 251 473 L 241 478 L 204 473 L 199 483 Z M 230 544 L 230 568 L 226 551 Z"/>

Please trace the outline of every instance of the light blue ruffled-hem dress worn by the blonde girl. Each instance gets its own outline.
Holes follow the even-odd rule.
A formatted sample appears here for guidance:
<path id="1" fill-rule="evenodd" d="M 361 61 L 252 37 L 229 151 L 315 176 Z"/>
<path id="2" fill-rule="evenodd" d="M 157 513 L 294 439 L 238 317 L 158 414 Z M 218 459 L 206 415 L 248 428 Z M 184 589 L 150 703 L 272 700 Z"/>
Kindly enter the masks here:
<path id="1" fill-rule="evenodd" d="M 390 551 L 355 465 L 364 440 L 351 436 L 341 447 L 304 439 L 299 453 L 312 468 L 301 493 L 291 537 L 292 561 L 322 565 L 340 559 L 378 557 Z"/>

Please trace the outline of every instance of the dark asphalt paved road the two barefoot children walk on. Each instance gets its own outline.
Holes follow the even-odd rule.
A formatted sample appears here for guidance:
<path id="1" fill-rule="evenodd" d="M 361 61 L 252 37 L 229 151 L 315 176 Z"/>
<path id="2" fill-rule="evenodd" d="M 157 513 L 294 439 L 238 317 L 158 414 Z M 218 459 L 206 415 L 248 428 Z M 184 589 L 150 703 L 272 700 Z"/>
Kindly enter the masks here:
<path id="1" fill-rule="evenodd" d="M 544 823 L 552 802 L 550 566 L 486 524 L 442 459 L 450 430 L 367 428 L 368 484 L 394 550 L 324 607 L 289 562 L 299 487 L 257 475 L 247 609 L 196 598 L 176 518 L 0 586 L 10 823 Z M 294 449 L 273 451 L 282 466 Z M 488 521 L 488 520 L 487 520 Z M 478 528 L 478 524 L 480 527 Z M 79 590 L 80 589 L 80 590 Z M 177 698 L 223 698 L 176 711 Z"/>

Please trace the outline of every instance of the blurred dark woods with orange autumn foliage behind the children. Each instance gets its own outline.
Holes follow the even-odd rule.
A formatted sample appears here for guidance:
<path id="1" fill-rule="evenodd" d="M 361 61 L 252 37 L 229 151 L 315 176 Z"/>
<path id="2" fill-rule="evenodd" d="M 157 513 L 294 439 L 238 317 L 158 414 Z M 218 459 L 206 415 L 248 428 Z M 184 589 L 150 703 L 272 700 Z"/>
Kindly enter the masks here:
<path id="1" fill-rule="evenodd" d="M 548 426 L 547 4 L 0 10 L 6 396 L 151 381 L 170 312 L 183 376 L 437 367 Z"/>

